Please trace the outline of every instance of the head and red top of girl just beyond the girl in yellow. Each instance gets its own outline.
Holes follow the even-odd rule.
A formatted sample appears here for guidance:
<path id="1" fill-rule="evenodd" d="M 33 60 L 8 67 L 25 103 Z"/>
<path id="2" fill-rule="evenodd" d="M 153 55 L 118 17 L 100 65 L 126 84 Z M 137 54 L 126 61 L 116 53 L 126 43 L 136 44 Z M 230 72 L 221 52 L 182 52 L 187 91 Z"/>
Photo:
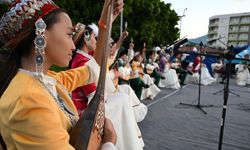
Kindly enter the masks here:
<path id="1" fill-rule="evenodd" d="M 76 30 L 80 30 L 83 28 L 83 36 L 76 37 L 74 36 L 74 42 L 76 44 L 76 50 L 73 55 L 73 59 L 71 62 L 70 68 L 77 68 L 80 66 L 84 66 L 90 59 L 93 58 L 94 50 L 96 49 L 96 37 L 97 33 L 94 32 L 95 25 L 92 24 L 92 28 L 90 26 L 86 26 L 78 23 L 76 25 Z M 76 31 L 77 32 L 77 31 Z M 98 31 L 97 31 L 98 32 Z M 78 42 L 75 39 L 78 38 Z M 72 100 L 78 110 L 79 116 L 82 115 L 83 110 L 87 107 L 87 104 L 93 98 L 96 91 L 96 83 L 90 83 L 82 87 L 78 87 L 74 91 L 72 91 Z"/>

